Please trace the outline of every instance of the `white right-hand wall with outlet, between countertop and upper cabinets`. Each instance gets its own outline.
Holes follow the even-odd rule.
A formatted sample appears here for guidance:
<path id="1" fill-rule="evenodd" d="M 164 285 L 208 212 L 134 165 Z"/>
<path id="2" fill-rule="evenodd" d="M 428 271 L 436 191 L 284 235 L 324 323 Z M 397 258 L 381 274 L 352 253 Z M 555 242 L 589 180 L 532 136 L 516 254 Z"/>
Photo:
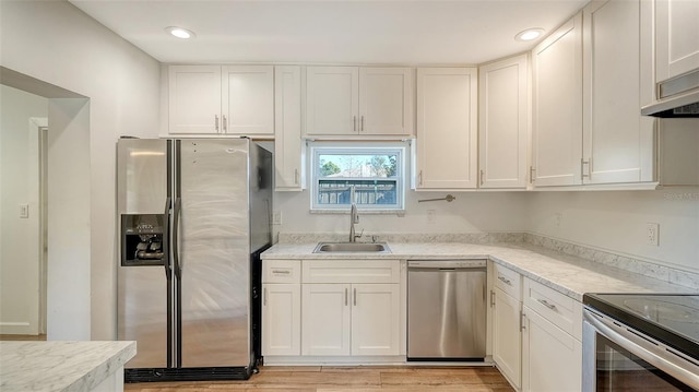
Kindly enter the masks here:
<path id="1" fill-rule="evenodd" d="M 535 192 L 524 206 L 531 233 L 699 272 L 699 188 Z M 660 224 L 660 246 L 645 243 L 647 223 Z"/>

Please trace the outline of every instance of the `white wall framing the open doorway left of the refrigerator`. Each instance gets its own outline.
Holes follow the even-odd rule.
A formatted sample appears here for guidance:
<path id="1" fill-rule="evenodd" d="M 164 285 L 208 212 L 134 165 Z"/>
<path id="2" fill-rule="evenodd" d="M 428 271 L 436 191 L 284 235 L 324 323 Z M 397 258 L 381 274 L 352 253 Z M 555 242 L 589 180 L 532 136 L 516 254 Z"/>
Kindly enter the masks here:
<path id="1" fill-rule="evenodd" d="M 116 141 L 121 134 L 157 136 L 159 64 L 66 1 L 1 1 L 0 61 L 5 68 L 90 98 L 90 162 L 84 165 L 88 171 L 82 175 L 88 178 L 60 174 L 68 183 L 88 183 L 90 192 L 76 207 L 87 209 L 90 237 L 87 243 L 72 243 L 79 249 L 64 249 L 49 265 L 48 333 L 51 336 L 56 322 L 66 326 L 74 322 L 80 323 L 75 329 L 80 332 L 61 331 L 52 337 L 115 338 Z M 49 127 L 50 121 L 49 116 Z M 74 222 L 55 224 L 62 227 L 54 229 L 69 230 Z M 71 262 L 73 251 L 85 250 L 90 252 L 86 260 Z M 52 282 L 51 271 L 70 271 L 71 275 Z M 88 295 L 72 289 L 85 284 Z M 51 296 L 62 290 L 67 293 L 61 297 L 62 308 L 51 307 Z M 75 314 L 80 317 L 73 320 Z"/>

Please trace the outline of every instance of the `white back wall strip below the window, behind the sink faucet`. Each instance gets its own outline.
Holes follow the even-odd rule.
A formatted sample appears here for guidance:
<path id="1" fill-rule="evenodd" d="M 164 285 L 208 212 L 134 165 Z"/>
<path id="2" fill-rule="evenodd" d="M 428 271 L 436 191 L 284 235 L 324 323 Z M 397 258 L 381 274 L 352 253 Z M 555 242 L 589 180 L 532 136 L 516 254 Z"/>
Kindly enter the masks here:
<path id="1" fill-rule="evenodd" d="M 415 192 L 408 190 L 405 216 L 359 213 L 357 234 L 386 233 L 486 233 L 523 231 L 526 216 L 522 213 L 522 192 L 450 192 L 457 200 L 418 203 L 418 199 L 443 198 L 448 192 Z M 311 214 L 309 191 L 276 192 L 274 210 L 282 212 L 282 225 L 275 231 L 350 234 L 346 214 Z M 435 210 L 435 222 L 427 211 Z"/>

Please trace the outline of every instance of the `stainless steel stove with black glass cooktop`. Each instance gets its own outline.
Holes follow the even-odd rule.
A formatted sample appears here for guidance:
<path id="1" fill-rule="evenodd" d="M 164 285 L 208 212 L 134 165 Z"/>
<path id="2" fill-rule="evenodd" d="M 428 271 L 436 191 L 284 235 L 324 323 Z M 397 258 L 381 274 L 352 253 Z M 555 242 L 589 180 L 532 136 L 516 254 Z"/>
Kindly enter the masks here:
<path id="1" fill-rule="evenodd" d="M 585 294 L 583 391 L 699 391 L 699 294 Z"/>

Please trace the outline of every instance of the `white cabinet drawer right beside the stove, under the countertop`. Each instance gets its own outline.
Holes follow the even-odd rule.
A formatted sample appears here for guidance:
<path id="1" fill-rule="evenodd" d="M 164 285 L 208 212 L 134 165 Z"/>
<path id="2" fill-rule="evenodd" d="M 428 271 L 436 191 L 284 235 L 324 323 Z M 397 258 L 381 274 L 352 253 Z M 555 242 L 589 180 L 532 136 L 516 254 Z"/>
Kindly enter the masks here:
<path id="1" fill-rule="evenodd" d="M 582 340 L 582 304 L 524 278 L 524 305 L 577 340 Z"/>

